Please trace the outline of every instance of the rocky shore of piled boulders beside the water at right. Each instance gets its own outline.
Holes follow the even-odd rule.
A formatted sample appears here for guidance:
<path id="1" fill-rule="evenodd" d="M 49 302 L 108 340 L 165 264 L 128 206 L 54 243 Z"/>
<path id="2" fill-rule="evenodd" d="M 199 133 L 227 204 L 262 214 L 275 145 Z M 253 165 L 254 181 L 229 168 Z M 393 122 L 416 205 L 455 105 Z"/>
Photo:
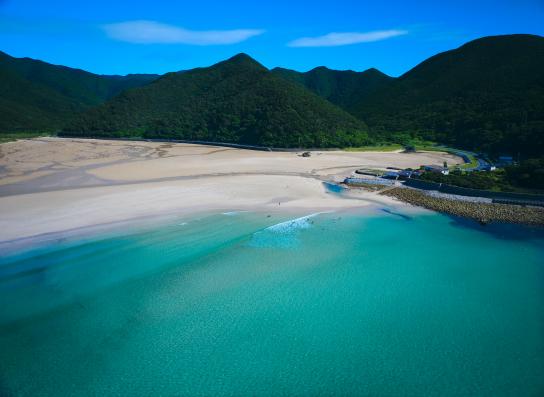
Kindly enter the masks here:
<path id="1" fill-rule="evenodd" d="M 544 208 L 540 207 L 459 201 L 399 187 L 384 190 L 380 194 L 433 211 L 472 218 L 481 223 L 495 221 L 544 226 Z"/>

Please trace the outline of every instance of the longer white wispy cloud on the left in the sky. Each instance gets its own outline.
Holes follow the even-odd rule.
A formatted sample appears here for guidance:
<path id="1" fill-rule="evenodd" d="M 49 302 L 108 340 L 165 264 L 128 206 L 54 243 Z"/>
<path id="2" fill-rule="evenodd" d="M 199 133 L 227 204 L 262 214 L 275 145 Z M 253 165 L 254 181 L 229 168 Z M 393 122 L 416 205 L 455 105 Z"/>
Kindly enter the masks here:
<path id="1" fill-rule="evenodd" d="M 137 44 L 235 44 L 264 33 L 261 29 L 188 30 L 155 21 L 127 21 L 103 25 L 115 40 Z"/>

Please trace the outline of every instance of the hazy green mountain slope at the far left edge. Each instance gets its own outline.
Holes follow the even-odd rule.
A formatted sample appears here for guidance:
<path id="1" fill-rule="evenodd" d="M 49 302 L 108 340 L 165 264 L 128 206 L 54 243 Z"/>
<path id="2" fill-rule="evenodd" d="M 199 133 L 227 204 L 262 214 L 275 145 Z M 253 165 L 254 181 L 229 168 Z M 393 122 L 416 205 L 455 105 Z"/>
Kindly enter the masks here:
<path id="1" fill-rule="evenodd" d="M 59 130 L 74 114 L 157 77 L 102 76 L 0 52 L 0 133 Z"/>

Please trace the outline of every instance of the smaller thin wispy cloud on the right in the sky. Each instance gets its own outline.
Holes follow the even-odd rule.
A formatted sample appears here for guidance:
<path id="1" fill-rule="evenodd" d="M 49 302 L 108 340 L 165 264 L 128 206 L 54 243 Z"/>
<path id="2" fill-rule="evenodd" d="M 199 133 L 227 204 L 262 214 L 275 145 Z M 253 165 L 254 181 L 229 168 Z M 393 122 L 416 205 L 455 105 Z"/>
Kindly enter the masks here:
<path id="1" fill-rule="evenodd" d="M 317 37 L 301 37 L 288 43 L 289 47 L 337 47 L 342 45 L 369 43 L 408 34 L 407 30 L 375 30 L 372 32 L 329 33 Z"/>

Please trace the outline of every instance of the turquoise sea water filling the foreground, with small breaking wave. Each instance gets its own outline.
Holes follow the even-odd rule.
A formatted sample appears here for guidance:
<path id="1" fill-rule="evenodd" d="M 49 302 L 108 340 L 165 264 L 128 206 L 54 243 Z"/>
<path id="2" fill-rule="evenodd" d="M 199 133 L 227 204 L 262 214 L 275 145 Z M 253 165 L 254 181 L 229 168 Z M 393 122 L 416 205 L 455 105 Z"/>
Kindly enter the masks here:
<path id="1" fill-rule="evenodd" d="M 4 251 L 0 395 L 543 395 L 542 231 L 290 218 Z"/>

